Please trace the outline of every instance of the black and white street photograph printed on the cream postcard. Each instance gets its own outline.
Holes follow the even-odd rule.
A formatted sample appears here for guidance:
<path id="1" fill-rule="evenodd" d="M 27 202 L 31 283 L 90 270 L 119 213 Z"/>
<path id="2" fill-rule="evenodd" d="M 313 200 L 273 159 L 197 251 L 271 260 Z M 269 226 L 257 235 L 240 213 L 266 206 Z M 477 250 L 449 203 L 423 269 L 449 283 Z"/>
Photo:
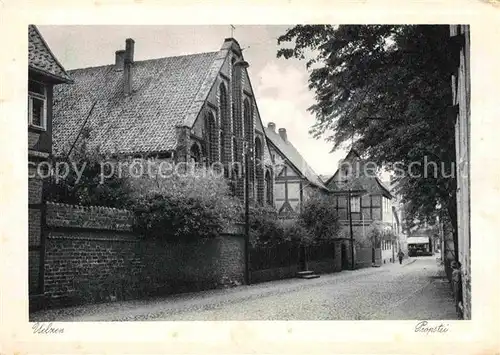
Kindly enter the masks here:
<path id="1" fill-rule="evenodd" d="M 37 331 L 472 318 L 469 25 L 29 25 L 28 42 Z"/>

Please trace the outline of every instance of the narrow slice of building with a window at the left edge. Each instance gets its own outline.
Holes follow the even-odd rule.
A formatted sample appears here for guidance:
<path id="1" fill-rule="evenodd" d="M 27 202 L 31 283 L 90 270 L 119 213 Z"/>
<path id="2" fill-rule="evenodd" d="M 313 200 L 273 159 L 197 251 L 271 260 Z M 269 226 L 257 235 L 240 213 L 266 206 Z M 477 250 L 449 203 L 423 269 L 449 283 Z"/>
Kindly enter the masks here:
<path id="1" fill-rule="evenodd" d="M 72 79 L 33 25 L 28 27 L 28 45 L 28 278 L 30 301 L 36 302 L 44 289 L 46 204 L 42 177 L 47 171 L 42 169 L 47 169 L 47 164 L 42 163 L 52 154 L 53 88 Z"/>

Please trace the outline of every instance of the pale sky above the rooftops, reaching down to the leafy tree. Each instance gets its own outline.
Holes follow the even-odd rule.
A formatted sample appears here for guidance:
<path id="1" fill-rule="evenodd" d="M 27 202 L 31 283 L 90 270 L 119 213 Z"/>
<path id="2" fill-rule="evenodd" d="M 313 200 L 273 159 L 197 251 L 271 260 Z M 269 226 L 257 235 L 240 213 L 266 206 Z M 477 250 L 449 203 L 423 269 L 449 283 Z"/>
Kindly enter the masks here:
<path id="1" fill-rule="evenodd" d="M 146 60 L 220 49 L 231 35 L 243 48 L 263 124 L 286 128 L 288 139 L 318 174 L 332 175 L 346 151 L 314 139 L 309 129 L 314 104 L 304 61 L 276 58 L 277 37 L 290 26 L 38 26 L 49 47 L 67 69 L 113 64 L 125 39 L 135 40 L 134 59 Z"/>

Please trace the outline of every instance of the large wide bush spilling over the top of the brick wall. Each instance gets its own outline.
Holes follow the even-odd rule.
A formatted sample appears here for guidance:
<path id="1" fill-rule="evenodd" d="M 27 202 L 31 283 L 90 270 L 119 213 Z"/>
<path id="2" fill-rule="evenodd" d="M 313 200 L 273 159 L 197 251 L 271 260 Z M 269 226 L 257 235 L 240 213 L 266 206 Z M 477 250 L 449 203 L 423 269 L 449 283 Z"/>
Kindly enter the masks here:
<path id="1" fill-rule="evenodd" d="M 131 179 L 130 186 L 135 230 L 148 238 L 212 238 L 241 216 L 241 203 L 230 196 L 226 180 L 206 168 L 142 176 Z"/>

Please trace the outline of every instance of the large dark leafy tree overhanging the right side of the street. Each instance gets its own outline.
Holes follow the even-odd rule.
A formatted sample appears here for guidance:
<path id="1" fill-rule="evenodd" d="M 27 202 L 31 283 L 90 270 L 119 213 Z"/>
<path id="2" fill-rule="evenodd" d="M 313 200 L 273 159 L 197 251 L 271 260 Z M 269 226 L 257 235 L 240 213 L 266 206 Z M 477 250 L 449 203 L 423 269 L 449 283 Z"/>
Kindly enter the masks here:
<path id="1" fill-rule="evenodd" d="M 299 25 L 278 38 L 278 57 L 307 60 L 316 99 L 310 133 L 333 150 L 353 142 L 367 159 L 395 171 L 407 222 L 434 220 L 440 203 L 457 248 L 448 43 L 444 25 Z M 424 168 L 425 159 L 437 166 Z"/>

